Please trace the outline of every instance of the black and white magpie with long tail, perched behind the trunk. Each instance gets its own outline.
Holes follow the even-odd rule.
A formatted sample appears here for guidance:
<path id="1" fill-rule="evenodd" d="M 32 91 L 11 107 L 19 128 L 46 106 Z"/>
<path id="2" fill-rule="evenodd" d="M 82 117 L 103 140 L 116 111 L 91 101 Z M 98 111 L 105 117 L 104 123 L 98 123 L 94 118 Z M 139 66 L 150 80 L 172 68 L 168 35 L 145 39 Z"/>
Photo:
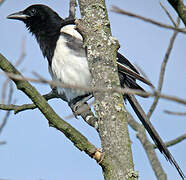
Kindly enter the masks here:
<path id="1" fill-rule="evenodd" d="M 29 32 L 35 36 L 43 56 L 48 60 L 49 73 L 54 82 L 90 87 L 92 77 L 88 67 L 86 49 L 83 46 L 83 37 L 76 28 L 75 19 L 63 19 L 50 7 L 43 4 L 31 5 L 23 11 L 8 15 L 7 18 L 22 21 Z M 153 86 L 119 52 L 117 52 L 117 68 L 121 87 L 145 92 L 136 80 Z M 63 100 L 68 102 L 69 105 L 75 105 L 93 94 L 92 92 L 87 93 L 83 89 L 61 86 L 57 86 L 56 89 L 57 93 L 63 95 Z M 133 96 L 124 94 L 123 97 L 131 104 L 159 151 L 175 166 L 181 178 L 185 179 L 184 173 L 161 137 L 148 118 L 141 112 L 143 110 L 136 106 Z"/>

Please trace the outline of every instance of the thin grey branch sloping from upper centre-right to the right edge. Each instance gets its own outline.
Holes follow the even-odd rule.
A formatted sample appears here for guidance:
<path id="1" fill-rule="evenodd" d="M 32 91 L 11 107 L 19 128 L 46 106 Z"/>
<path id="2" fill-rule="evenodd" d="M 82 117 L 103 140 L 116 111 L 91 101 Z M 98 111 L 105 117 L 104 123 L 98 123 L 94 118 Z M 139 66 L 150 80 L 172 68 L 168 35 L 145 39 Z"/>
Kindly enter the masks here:
<path id="1" fill-rule="evenodd" d="M 175 28 L 173 26 L 170 26 L 170 25 L 167 25 L 167 24 L 163 24 L 163 23 L 154 21 L 152 19 L 140 16 L 140 15 L 137 15 L 137 14 L 134 14 L 134 13 L 131 13 L 131 12 L 127 12 L 127 11 L 124 11 L 124 10 L 116 7 L 116 6 L 112 6 L 111 11 L 119 13 L 119 14 L 124 14 L 124 15 L 130 16 L 130 17 L 138 18 L 140 20 L 143 20 L 145 22 L 149 22 L 149 23 L 157 25 L 159 27 L 163 27 L 163 28 L 166 28 L 166 29 L 171 29 L 171 30 L 178 31 L 178 32 L 181 32 L 181 33 L 186 33 L 185 29 Z"/>

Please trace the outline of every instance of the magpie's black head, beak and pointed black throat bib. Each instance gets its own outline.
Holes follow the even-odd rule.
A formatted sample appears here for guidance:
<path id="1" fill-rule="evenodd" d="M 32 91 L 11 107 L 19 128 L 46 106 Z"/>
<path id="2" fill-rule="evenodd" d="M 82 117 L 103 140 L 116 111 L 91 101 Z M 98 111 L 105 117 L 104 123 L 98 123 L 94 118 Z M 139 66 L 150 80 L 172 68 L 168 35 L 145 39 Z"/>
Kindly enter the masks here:
<path id="1" fill-rule="evenodd" d="M 35 35 L 43 55 L 50 64 L 64 20 L 51 8 L 42 4 L 29 6 L 23 11 L 10 14 L 7 18 L 26 24 L 29 31 Z"/>

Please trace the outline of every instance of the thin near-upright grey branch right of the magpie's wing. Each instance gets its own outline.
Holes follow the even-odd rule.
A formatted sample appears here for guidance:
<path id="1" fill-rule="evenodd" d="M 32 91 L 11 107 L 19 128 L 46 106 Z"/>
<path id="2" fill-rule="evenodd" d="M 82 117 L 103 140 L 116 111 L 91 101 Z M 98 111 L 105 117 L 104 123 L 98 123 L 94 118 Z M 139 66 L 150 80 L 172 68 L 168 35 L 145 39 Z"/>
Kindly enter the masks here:
<path id="1" fill-rule="evenodd" d="M 179 18 L 178 18 L 178 21 L 177 21 L 177 24 L 176 24 L 176 27 L 179 26 Z M 167 52 L 165 53 L 165 57 L 163 59 L 163 62 L 161 64 L 161 70 L 160 70 L 160 77 L 159 77 L 159 82 L 158 82 L 158 89 L 157 91 L 161 93 L 161 90 L 162 90 L 162 86 L 163 86 L 163 80 L 164 80 L 164 77 L 165 77 L 165 68 L 166 68 L 166 65 L 167 65 L 167 62 L 168 62 L 168 59 L 169 59 L 169 56 L 170 56 L 170 53 L 171 53 L 171 50 L 173 48 L 173 44 L 175 42 L 175 39 L 176 39 L 176 36 L 177 36 L 178 32 L 177 31 L 174 31 L 171 39 L 170 39 L 170 43 L 169 43 L 169 46 L 168 46 L 168 49 L 167 49 Z M 154 112 L 157 104 L 158 104 L 158 101 L 159 101 L 159 98 L 158 96 L 156 96 L 154 98 L 154 101 L 149 109 L 149 112 L 147 113 L 147 117 L 150 119 L 152 113 Z"/>

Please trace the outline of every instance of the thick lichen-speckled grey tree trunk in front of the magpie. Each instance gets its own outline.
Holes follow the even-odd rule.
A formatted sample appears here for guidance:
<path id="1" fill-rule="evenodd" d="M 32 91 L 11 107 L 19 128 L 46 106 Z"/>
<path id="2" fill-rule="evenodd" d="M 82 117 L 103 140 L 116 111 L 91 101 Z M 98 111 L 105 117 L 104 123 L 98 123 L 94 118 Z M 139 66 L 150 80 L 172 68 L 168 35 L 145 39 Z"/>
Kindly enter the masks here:
<path id="1" fill-rule="evenodd" d="M 82 20 L 76 21 L 84 37 L 92 86 L 120 87 L 116 66 L 118 42 L 112 37 L 104 0 L 79 0 Z M 104 152 L 100 163 L 105 180 L 137 179 L 122 94 L 95 92 L 94 109 Z"/>

